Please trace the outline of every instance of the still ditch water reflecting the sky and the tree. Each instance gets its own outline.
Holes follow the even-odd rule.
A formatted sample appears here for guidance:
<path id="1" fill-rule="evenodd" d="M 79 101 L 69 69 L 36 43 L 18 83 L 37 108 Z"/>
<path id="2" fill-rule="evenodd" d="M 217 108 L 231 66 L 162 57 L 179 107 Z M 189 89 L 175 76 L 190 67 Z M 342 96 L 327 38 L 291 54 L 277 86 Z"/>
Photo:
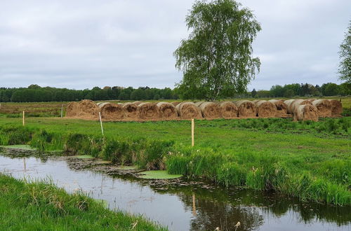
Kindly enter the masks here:
<path id="1" fill-rule="evenodd" d="M 25 163 L 24 163 L 25 162 Z M 274 193 L 199 186 L 160 188 L 133 177 L 111 177 L 69 169 L 65 160 L 8 158 L 0 172 L 22 179 L 48 179 L 72 193 L 82 190 L 170 230 L 351 230 L 351 207 L 303 203 Z"/>

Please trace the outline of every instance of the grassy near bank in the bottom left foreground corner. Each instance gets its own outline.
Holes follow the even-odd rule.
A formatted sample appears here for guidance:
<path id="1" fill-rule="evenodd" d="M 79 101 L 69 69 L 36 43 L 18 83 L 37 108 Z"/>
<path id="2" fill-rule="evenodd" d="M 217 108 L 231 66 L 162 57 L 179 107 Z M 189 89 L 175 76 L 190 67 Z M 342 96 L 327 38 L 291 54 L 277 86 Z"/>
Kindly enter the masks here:
<path id="1" fill-rule="evenodd" d="M 166 230 L 51 183 L 25 183 L 0 174 L 0 197 L 1 230 Z"/>

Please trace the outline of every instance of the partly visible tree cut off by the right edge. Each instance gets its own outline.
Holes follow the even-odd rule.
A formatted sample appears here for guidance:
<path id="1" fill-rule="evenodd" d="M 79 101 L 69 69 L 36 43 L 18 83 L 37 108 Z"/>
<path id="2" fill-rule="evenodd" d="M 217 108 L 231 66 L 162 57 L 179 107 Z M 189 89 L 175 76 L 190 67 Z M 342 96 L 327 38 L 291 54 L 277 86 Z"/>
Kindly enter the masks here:
<path id="1" fill-rule="evenodd" d="M 345 39 L 340 45 L 339 57 L 341 59 L 338 69 L 339 78 L 346 83 L 351 83 L 351 21 L 347 27 Z"/>

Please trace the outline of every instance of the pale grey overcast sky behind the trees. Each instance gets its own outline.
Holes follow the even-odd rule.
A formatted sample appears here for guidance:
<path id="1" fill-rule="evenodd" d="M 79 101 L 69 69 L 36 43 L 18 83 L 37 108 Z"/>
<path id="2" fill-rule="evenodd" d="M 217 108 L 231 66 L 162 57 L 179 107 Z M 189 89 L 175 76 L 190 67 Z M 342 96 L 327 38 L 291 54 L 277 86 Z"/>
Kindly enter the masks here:
<path id="1" fill-rule="evenodd" d="M 338 82 L 350 0 L 241 0 L 262 31 L 249 90 Z M 174 87 L 192 0 L 0 0 L 0 87 Z"/>

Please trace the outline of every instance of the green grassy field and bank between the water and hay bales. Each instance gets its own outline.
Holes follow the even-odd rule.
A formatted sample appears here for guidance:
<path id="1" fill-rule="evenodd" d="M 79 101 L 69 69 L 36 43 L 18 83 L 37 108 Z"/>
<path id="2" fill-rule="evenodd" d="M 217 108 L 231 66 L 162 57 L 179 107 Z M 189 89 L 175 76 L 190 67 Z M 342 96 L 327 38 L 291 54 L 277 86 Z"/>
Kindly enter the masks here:
<path id="1" fill-rule="evenodd" d="M 68 155 L 94 155 L 123 165 L 168 169 L 226 186 L 276 190 L 301 200 L 351 204 L 351 118 L 104 123 L 0 118 L 0 144 L 30 144 Z"/>

